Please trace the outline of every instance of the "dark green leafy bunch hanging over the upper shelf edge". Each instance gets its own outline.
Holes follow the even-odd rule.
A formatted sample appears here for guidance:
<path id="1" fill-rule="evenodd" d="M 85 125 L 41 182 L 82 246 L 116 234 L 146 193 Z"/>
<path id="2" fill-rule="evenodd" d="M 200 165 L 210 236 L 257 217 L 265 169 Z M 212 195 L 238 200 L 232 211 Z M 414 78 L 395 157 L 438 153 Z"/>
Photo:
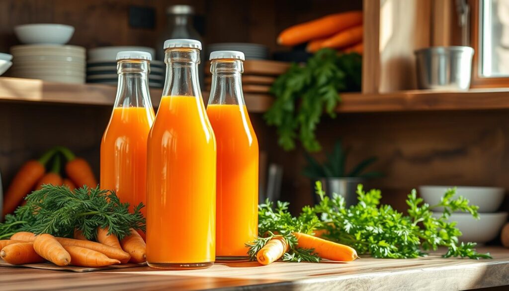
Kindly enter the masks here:
<path id="1" fill-rule="evenodd" d="M 356 53 L 338 55 L 324 48 L 307 64 L 292 64 L 272 85 L 276 99 L 265 114 L 267 123 L 277 127 L 279 145 L 292 150 L 298 138 L 307 151 L 320 150 L 315 129 L 323 112 L 334 118 L 338 93 L 359 91 L 360 77 L 361 56 Z"/>

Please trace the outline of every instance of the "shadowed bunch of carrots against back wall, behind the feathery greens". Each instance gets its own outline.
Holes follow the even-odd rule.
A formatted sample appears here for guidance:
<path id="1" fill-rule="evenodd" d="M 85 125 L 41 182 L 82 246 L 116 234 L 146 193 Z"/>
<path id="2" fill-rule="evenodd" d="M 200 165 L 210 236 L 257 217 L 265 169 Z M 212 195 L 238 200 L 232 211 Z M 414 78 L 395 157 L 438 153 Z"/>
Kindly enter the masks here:
<path id="1" fill-rule="evenodd" d="M 62 155 L 66 160 L 66 178 L 62 178 L 61 175 Z M 46 165 L 51 161 L 52 165 L 46 172 Z M 21 166 L 4 194 L 2 217 L 12 213 L 22 203 L 26 195 L 32 190 L 40 190 L 44 184 L 65 185 L 74 190 L 83 185 L 95 188 L 97 180 L 89 163 L 83 158 L 76 157 L 65 147 L 52 148 L 45 152 L 39 160 L 30 160 Z"/>

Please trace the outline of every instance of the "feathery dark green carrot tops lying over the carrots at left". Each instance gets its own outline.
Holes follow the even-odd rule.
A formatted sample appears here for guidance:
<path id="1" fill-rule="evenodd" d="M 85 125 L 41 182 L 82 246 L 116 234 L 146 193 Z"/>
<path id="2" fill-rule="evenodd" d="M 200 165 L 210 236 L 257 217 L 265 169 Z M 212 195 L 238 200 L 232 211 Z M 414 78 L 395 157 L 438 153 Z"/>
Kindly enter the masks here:
<path id="1" fill-rule="evenodd" d="M 25 206 L 18 207 L 0 224 L 0 237 L 17 231 L 72 237 L 77 228 L 87 239 L 95 240 L 97 228 L 107 226 L 108 233 L 122 239 L 130 228 L 145 230 L 145 218 L 140 212 L 143 204 L 130 213 L 129 203 L 121 203 L 115 192 L 87 187 L 72 192 L 67 187 L 45 185 L 26 200 Z"/>

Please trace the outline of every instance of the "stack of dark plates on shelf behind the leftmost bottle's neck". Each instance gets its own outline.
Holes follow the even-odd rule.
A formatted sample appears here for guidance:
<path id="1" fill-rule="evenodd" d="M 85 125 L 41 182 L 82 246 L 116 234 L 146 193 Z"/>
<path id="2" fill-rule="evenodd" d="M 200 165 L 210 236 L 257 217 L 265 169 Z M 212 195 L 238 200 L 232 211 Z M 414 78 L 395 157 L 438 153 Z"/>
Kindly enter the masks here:
<path id="1" fill-rule="evenodd" d="M 88 51 L 87 83 L 117 85 L 117 53 L 123 50 L 146 51 L 155 56 L 155 49 L 144 46 L 104 46 Z M 149 86 L 162 88 L 164 85 L 164 62 L 150 62 Z"/>

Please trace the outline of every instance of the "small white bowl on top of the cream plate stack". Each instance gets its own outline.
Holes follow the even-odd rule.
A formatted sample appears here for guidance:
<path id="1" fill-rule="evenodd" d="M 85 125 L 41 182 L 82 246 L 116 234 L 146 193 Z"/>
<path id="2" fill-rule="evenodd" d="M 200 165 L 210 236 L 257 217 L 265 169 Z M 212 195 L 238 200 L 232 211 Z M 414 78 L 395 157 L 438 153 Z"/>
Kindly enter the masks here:
<path id="1" fill-rule="evenodd" d="M 14 27 L 14 33 L 22 43 L 66 44 L 74 28 L 65 24 L 23 24 Z"/>

